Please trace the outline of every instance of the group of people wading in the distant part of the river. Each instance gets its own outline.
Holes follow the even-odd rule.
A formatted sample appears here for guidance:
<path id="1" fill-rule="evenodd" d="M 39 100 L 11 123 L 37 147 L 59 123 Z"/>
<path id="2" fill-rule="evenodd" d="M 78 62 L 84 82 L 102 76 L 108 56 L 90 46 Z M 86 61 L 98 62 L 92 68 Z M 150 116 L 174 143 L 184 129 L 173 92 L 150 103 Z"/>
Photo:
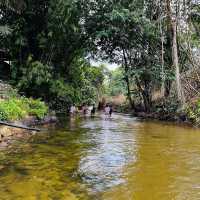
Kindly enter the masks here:
<path id="1" fill-rule="evenodd" d="M 75 116 L 78 113 L 81 113 L 83 116 L 88 116 L 88 115 L 95 116 L 96 111 L 97 111 L 97 108 L 96 108 L 95 104 L 93 104 L 93 105 L 83 104 L 80 107 L 77 107 L 75 104 L 72 104 L 69 109 L 70 116 Z M 112 113 L 113 113 L 112 105 L 106 104 L 103 111 L 106 116 L 111 117 Z"/>

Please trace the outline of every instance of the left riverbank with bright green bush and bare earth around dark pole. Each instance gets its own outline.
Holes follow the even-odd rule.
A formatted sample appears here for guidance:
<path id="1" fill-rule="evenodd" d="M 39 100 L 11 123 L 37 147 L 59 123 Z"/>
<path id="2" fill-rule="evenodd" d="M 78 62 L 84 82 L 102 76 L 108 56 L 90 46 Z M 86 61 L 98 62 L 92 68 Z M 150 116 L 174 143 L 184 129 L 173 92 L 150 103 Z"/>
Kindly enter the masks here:
<path id="1" fill-rule="evenodd" d="M 0 149 L 8 147 L 18 138 L 26 138 L 34 133 L 31 130 L 7 125 L 34 127 L 56 122 L 56 120 L 55 114 L 44 101 L 21 96 L 17 89 L 0 81 L 0 121 L 2 122 Z"/>

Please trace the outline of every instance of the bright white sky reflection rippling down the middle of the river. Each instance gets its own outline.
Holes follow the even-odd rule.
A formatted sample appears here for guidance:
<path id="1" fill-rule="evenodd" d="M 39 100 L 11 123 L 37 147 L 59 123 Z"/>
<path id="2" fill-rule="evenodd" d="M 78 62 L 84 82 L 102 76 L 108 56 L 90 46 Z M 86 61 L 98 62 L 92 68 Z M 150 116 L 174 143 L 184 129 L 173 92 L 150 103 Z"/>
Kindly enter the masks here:
<path id="1" fill-rule="evenodd" d="M 82 125 L 88 129 L 89 143 L 96 145 L 81 159 L 79 173 L 96 192 L 124 183 L 123 167 L 136 159 L 134 136 L 126 131 L 128 121 L 119 126 L 118 118 L 102 118 Z"/>

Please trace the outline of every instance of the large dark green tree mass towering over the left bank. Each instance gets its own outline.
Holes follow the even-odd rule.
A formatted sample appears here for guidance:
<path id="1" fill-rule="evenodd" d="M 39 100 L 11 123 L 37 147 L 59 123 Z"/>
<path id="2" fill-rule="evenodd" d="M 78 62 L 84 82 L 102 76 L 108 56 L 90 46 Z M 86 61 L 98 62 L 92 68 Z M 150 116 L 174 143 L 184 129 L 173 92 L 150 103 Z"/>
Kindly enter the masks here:
<path id="1" fill-rule="evenodd" d="M 85 59 L 87 35 L 81 21 L 86 11 L 80 12 L 82 3 L 23 2 L 20 10 L 14 1 L 0 5 L 2 24 L 12 30 L 0 36 L 1 45 L 11 55 L 12 84 L 27 96 L 42 97 L 56 105 L 83 98 L 95 101 L 102 71 Z"/>

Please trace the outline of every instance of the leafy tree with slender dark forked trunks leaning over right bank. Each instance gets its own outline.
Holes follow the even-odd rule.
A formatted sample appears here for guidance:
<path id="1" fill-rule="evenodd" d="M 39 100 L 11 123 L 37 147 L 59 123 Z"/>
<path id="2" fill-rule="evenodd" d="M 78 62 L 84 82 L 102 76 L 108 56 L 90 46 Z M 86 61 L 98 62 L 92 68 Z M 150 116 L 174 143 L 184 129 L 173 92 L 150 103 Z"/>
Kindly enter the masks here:
<path id="1" fill-rule="evenodd" d="M 104 3 L 107 4 L 106 1 Z M 99 9 L 95 7 L 95 15 L 89 16 L 86 24 L 96 23 L 98 26 L 89 26 L 86 30 L 89 35 L 93 33 L 93 46 L 96 47 L 94 51 L 97 49 L 103 59 L 109 59 L 123 67 L 127 96 L 132 108 L 136 85 L 148 111 L 151 107 L 153 72 L 160 73 L 153 67 L 158 65 L 158 54 L 153 51 L 154 47 L 157 48 L 158 41 L 154 34 L 155 26 L 147 18 L 141 18 L 141 4 L 140 7 L 141 9 L 138 10 L 137 7 L 136 10 L 133 4 L 121 1 L 115 5 L 99 6 Z M 155 81 L 158 80 L 157 77 Z"/>

